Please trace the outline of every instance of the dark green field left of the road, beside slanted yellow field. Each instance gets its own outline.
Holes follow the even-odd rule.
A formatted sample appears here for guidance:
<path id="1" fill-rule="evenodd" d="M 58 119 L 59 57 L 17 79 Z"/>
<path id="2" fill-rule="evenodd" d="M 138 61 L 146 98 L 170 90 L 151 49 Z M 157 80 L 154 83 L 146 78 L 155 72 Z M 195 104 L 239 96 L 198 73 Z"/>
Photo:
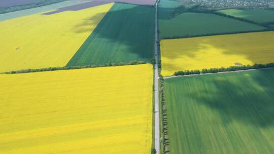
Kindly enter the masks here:
<path id="1" fill-rule="evenodd" d="M 150 61 L 154 11 L 153 7 L 114 4 L 67 66 Z"/>

